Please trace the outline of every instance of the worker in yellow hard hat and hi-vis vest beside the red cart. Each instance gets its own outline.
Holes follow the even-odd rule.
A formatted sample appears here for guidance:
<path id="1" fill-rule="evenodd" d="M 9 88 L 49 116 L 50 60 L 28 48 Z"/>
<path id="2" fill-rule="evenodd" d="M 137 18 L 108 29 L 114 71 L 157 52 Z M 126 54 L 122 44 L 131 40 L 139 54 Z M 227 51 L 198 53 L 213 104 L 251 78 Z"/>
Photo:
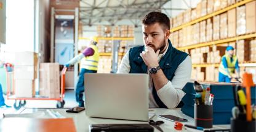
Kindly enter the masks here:
<path id="1" fill-rule="evenodd" d="M 84 93 L 84 73 L 97 73 L 98 70 L 98 59 L 100 55 L 96 46 L 97 43 L 98 40 L 94 37 L 90 41 L 90 45 L 82 53 L 65 64 L 65 67 L 69 67 L 81 60 L 81 71 L 78 75 L 78 83 L 76 84 L 76 101 L 79 103 L 79 107 L 84 107 L 84 100 L 82 100 Z"/>

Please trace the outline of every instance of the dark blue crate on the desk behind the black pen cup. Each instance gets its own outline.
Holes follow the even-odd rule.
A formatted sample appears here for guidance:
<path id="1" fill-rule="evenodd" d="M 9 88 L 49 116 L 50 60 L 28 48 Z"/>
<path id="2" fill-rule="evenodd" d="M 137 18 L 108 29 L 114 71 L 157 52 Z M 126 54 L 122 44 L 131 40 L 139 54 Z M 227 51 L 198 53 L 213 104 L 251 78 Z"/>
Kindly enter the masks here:
<path id="1" fill-rule="evenodd" d="M 190 117 L 194 117 L 194 88 L 193 83 L 188 82 L 183 91 L 186 95 L 182 98 L 184 106 L 182 112 Z M 231 109 L 234 107 L 233 86 L 232 84 L 202 84 L 204 88 L 210 87 L 211 93 L 214 94 L 214 124 L 230 124 L 232 117 Z M 255 104 L 255 89 L 251 87 L 252 104 Z M 245 90 L 245 89 L 244 89 Z"/>

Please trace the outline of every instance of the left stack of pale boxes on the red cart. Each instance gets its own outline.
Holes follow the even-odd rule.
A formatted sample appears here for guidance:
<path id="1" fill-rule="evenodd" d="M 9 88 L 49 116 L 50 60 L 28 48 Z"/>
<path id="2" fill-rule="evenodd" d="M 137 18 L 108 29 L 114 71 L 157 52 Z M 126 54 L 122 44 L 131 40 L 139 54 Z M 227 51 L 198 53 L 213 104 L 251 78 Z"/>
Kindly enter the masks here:
<path id="1" fill-rule="evenodd" d="M 36 94 L 34 79 L 38 73 L 38 55 L 33 52 L 17 52 L 14 65 L 15 97 L 33 97 Z"/>

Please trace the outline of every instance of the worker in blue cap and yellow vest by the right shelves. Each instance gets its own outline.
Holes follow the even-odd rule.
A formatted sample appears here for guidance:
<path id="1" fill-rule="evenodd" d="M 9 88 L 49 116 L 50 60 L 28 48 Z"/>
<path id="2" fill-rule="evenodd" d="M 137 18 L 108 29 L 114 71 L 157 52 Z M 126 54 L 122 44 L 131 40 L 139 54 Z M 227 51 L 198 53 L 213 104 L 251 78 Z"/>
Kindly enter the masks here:
<path id="1" fill-rule="evenodd" d="M 236 69 L 237 78 L 239 76 L 239 66 L 238 66 L 238 58 L 234 55 L 233 46 L 226 47 L 227 53 L 222 56 L 222 62 L 220 63 L 220 67 L 218 67 L 218 81 L 219 82 L 230 82 L 231 81 L 231 73 L 234 73 Z"/>

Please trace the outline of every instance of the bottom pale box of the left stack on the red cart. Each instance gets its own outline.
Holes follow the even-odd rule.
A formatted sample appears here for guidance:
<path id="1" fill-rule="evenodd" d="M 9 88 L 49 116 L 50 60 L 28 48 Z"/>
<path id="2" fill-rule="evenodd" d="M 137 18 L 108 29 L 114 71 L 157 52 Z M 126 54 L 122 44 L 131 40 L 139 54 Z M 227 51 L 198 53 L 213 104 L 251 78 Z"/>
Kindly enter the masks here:
<path id="1" fill-rule="evenodd" d="M 32 98 L 34 93 L 34 81 L 26 79 L 15 79 L 15 97 Z"/>

